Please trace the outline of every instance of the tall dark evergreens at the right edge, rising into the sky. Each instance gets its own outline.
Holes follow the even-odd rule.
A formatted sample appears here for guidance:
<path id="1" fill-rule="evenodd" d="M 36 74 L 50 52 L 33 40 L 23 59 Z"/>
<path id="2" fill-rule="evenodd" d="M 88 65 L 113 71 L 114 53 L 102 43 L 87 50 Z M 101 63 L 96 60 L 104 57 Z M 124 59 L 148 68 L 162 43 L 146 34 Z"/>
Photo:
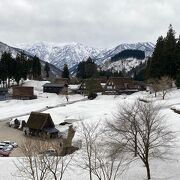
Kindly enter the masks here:
<path id="1" fill-rule="evenodd" d="M 176 39 L 172 25 L 166 37 L 157 40 L 152 57 L 148 60 L 146 79 L 168 76 L 176 79 L 180 74 L 180 39 Z"/>

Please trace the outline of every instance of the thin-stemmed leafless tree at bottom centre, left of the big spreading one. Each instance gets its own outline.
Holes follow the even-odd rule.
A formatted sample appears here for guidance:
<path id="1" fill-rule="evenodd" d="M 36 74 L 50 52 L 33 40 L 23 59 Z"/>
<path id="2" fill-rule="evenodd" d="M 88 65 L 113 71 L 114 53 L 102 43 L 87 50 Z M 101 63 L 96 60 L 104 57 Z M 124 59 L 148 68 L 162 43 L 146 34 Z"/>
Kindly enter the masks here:
<path id="1" fill-rule="evenodd" d="M 78 165 L 89 173 L 89 179 L 95 175 L 99 180 L 115 180 L 125 169 L 125 156 L 110 151 L 106 137 L 98 129 L 99 123 L 82 123 L 82 149 L 78 152 Z M 124 163 L 124 164 L 123 164 Z"/>

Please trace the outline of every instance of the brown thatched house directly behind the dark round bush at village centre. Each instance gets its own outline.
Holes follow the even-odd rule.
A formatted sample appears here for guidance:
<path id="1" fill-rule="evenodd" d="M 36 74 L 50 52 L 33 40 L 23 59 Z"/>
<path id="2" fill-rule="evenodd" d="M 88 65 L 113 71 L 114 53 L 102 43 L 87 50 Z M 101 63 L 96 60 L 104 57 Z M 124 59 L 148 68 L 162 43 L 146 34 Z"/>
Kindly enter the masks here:
<path id="1" fill-rule="evenodd" d="M 97 79 L 85 79 L 79 86 L 78 92 L 80 94 L 88 94 L 88 92 L 102 92 L 103 88 Z"/>

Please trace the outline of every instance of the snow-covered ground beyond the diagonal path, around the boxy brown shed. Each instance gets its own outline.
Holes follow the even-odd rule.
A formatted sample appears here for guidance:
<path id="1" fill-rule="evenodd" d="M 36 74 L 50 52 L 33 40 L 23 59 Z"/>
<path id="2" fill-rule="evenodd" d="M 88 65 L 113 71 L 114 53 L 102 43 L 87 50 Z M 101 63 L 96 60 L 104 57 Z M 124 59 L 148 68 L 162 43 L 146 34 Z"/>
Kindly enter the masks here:
<path id="1" fill-rule="evenodd" d="M 43 93 L 43 84 L 47 81 L 26 81 L 23 86 L 33 86 L 37 99 L 0 101 L 0 121 L 29 114 L 31 111 L 43 111 L 48 107 L 67 103 L 64 95 Z M 69 103 L 84 99 L 81 95 L 69 95 Z"/>

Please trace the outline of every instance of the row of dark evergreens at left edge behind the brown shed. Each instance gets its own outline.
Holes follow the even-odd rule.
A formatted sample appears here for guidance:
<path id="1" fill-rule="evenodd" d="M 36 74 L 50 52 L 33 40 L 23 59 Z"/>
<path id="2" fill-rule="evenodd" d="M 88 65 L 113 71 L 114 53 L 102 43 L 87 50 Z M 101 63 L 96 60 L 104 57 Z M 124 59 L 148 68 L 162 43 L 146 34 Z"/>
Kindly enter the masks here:
<path id="1" fill-rule="evenodd" d="M 49 77 L 50 67 L 46 63 L 44 66 L 46 77 Z M 41 77 L 41 62 L 37 56 L 32 59 L 28 58 L 23 52 L 13 57 L 11 52 L 4 52 L 0 59 L 0 82 L 5 86 L 10 86 L 10 79 L 19 84 L 23 79 L 39 79 Z"/>

